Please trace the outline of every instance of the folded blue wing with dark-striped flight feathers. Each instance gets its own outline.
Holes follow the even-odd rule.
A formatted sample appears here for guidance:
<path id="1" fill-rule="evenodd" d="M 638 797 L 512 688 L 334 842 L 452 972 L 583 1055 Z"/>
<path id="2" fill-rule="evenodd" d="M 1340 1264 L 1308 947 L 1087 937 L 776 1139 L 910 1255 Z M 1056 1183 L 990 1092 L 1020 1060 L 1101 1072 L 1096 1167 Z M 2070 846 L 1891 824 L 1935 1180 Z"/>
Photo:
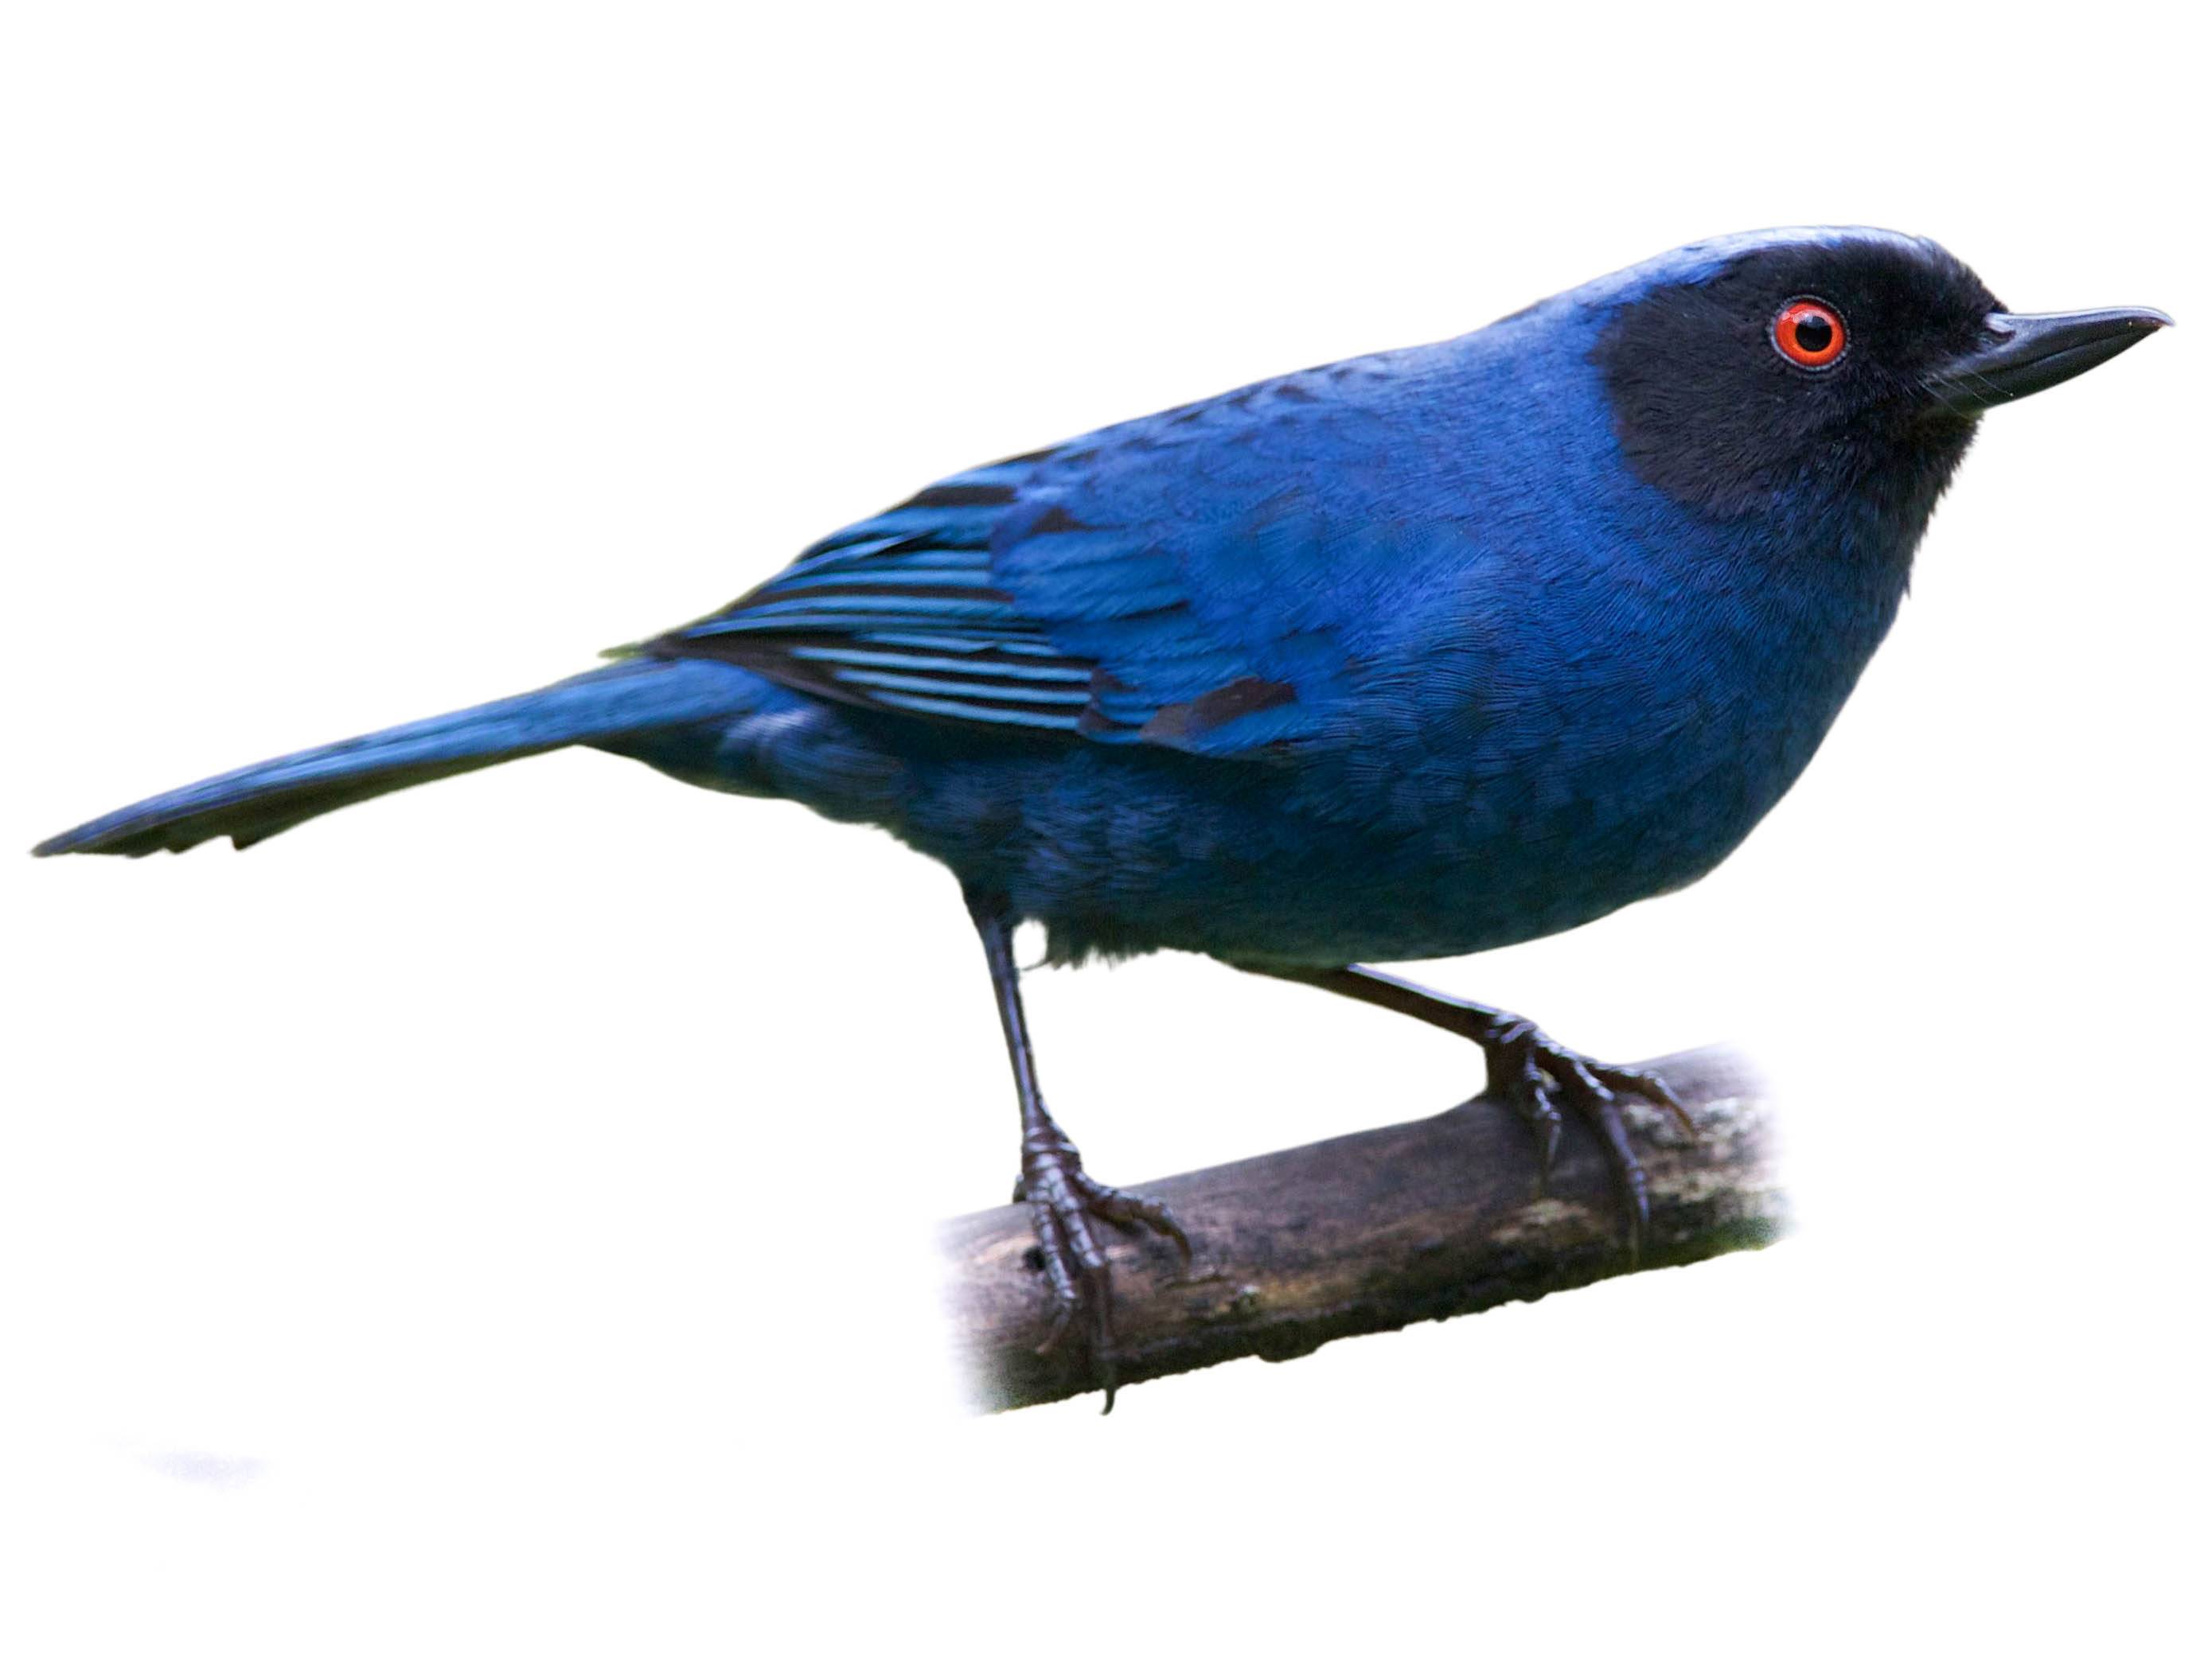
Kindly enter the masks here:
<path id="1" fill-rule="evenodd" d="M 1352 520 L 1316 480 L 1363 447 L 1343 378 L 1369 363 L 956 473 L 641 650 L 980 727 L 1296 743 L 1354 665 L 1334 568 Z"/>

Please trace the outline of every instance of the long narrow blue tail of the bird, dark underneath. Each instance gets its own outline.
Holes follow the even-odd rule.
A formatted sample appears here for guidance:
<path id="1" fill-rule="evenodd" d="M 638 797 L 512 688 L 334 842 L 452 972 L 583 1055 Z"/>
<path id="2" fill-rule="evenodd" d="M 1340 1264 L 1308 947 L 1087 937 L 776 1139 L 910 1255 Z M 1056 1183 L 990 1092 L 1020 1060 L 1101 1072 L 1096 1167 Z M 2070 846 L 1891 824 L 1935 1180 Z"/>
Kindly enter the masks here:
<path id="1" fill-rule="evenodd" d="M 389 732 L 285 754 L 157 794 L 60 833 L 33 847 L 33 853 L 53 858 L 64 851 L 104 851 L 144 858 L 148 851 L 184 851 L 215 836 L 250 847 L 307 818 L 416 783 L 571 743 L 728 718 L 743 712 L 759 692 L 761 681 L 728 663 L 622 661 L 526 696 L 394 725 Z"/>

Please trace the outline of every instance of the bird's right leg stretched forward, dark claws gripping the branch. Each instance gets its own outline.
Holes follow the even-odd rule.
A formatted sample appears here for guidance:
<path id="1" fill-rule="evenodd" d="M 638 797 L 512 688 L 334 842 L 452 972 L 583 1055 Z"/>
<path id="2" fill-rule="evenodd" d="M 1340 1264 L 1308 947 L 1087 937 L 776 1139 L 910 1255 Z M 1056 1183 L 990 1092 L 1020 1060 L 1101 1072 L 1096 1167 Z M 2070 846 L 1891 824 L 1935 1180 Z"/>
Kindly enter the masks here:
<path id="1" fill-rule="evenodd" d="M 1482 1048 L 1489 1068 L 1486 1094 L 1506 1101 L 1528 1132 L 1535 1134 L 1537 1165 L 1551 1178 L 1553 1158 L 1559 1154 L 1559 1108 L 1582 1116 L 1606 1147 L 1613 1165 L 1613 1180 L 1628 1209 L 1628 1253 L 1635 1256 L 1650 1227 L 1650 1183 L 1644 1163 L 1628 1138 L 1628 1123 L 1621 1119 L 1621 1096 L 1635 1094 L 1652 1105 L 1661 1105 L 1694 1132 L 1690 1112 L 1661 1077 L 1628 1066 L 1601 1066 L 1595 1059 L 1564 1048 L 1528 1019 L 1486 1008 L 1480 1001 L 1422 990 L 1418 984 L 1394 979 L 1363 966 L 1343 968 L 1254 968 L 1276 979 L 1294 979 L 1334 990 L 1340 997 L 1365 1001 L 1374 1008 L 1389 1008 L 1422 1024 L 1438 1026 L 1467 1037 Z"/>

